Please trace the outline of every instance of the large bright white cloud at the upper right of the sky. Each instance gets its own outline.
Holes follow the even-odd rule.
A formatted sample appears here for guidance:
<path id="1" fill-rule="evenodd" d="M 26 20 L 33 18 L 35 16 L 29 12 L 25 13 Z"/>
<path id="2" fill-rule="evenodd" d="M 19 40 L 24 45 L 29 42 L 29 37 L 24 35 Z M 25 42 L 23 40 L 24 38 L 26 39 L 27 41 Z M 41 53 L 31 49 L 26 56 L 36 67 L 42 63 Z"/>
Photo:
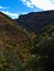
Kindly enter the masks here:
<path id="1" fill-rule="evenodd" d="M 54 10 L 54 0 L 21 0 L 29 8 L 40 8 L 42 10 Z"/>

